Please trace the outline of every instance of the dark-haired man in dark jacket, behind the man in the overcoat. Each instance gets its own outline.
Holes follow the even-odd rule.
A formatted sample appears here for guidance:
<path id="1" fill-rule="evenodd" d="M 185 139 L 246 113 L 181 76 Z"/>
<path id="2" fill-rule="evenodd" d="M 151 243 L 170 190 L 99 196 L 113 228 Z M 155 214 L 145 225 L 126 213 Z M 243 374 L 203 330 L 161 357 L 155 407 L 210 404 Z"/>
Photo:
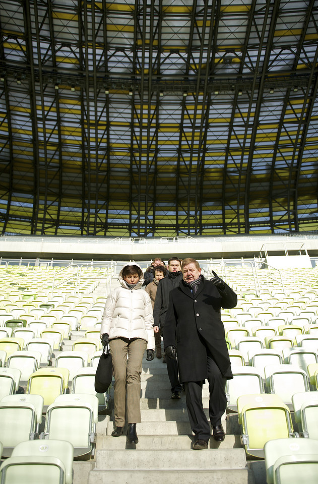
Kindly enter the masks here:
<path id="1" fill-rule="evenodd" d="M 169 294 L 172 289 L 177 287 L 182 280 L 181 261 L 177 257 L 171 257 L 168 261 L 167 276 L 161 279 L 158 284 L 154 305 L 154 331 L 155 333 L 164 327 L 166 312 L 169 302 Z M 179 382 L 178 365 L 176 360 L 167 359 L 167 371 L 171 383 L 171 398 L 179 399 L 181 396 L 182 385 Z"/>

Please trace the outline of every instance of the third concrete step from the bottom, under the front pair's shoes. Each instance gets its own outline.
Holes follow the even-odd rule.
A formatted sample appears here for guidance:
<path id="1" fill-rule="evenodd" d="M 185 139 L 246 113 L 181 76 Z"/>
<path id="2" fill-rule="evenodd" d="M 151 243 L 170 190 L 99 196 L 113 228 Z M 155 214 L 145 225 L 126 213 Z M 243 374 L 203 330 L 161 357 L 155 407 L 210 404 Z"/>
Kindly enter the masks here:
<path id="1" fill-rule="evenodd" d="M 193 435 L 141 435 L 137 424 L 138 450 L 189 450 L 194 442 Z M 111 435 L 98 436 L 96 449 L 124 450 L 129 447 L 126 436 L 111 437 Z M 216 442 L 212 437 L 209 442 L 210 449 L 241 449 L 240 436 L 227 434 L 223 442 Z"/>

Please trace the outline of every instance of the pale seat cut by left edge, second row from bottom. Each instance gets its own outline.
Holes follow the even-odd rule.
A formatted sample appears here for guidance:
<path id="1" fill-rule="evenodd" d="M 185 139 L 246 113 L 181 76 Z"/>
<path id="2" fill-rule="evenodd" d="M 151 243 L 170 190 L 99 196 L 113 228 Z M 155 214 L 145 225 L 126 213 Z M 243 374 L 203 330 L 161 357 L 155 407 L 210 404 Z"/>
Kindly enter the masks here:
<path id="1" fill-rule="evenodd" d="M 8 395 L 2 398 L 0 429 L 3 457 L 9 457 L 19 442 L 39 438 L 42 409 L 41 395 Z"/>

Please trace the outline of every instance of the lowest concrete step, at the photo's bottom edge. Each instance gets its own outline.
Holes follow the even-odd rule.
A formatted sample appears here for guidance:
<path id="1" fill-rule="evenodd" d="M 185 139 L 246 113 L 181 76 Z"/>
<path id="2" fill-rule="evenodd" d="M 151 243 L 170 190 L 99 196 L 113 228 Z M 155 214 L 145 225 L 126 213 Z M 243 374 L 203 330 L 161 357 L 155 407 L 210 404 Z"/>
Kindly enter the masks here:
<path id="1" fill-rule="evenodd" d="M 205 453 L 214 451 L 205 450 Z M 155 470 L 155 471 L 131 471 L 131 470 L 98 470 L 90 471 L 88 484 L 254 484 L 253 474 L 245 469 L 221 469 L 221 470 Z"/>

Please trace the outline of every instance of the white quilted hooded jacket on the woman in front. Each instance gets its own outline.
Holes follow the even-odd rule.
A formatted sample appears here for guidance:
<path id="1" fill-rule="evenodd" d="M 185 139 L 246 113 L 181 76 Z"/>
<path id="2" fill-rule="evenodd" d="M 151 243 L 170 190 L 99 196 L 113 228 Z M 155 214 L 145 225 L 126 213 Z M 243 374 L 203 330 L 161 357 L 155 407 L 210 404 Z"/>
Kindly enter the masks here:
<path id="1" fill-rule="evenodd" d="M 108 333 L 110 340 L 141 338 L 147 341 L 147 349 L 155 349 L 151 299 L 141 289 L 144 280 L 140 279 L 134 289 L 129 289 L 120 272 L 119 281 L 121 287 L 116 287 L 107 297 L 100 336 Z"/>

